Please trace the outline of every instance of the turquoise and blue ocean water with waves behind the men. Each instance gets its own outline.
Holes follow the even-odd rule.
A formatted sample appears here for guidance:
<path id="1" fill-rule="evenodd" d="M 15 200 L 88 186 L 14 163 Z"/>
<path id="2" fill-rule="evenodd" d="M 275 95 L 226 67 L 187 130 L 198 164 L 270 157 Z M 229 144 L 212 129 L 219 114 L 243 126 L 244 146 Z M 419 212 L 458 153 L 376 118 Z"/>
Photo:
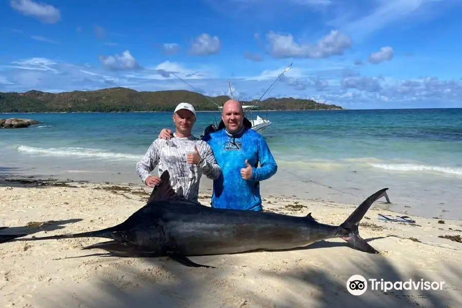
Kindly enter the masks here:
<path id="1" fill-rule="evenodd" d="M 359 204 L 389 187 L 392 204 L 375 206 L 462 219 L 462 109 L 256 114 L 273 122 L 263 136 L 279 165 L 261 183 L 263 197 Z M 138 159 L 162 128 L 174 129 L 171 112 L 0 114 L 11 117 L 43 123 L 0 129 L 0 175 L 142 184 Z M 193 133 L 214 120 L 219 112 L 199 112 Z M 204 177 L 201 189 L 208 187 Z"/>

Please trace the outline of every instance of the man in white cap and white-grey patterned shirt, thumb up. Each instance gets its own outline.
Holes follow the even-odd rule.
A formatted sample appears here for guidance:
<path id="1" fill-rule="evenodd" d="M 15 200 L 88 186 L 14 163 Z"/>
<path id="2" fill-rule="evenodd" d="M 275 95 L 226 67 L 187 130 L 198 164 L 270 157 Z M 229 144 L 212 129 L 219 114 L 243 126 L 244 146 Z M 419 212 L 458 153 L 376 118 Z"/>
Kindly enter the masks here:
<path id="1" fill-rule="evenodd" d="M 196 122 L 196 110 L 188 103 L 180 103 L 172 115 L 176 131 L 169 140 L 154 140 L 145 155 L 137 163 L 137 174 L 149 187 L 159 185 L 165 170 L 170 174 L 170 184 L 190 201 L 198 202 L 199 182 L 202 174 L 215 180 L 221 174 L 210 146 L 192 136 Z M 159 177 L 149 175 L 158 166 Z"/>

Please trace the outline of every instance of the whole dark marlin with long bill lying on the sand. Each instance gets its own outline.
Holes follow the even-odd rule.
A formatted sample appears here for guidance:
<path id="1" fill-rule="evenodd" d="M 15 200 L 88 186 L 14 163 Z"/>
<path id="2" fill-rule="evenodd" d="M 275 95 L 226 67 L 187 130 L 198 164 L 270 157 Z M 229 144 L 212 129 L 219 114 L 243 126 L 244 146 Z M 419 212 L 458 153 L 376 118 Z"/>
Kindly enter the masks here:
<path id="1" fill-rule="evenodd" d="M 360 220 L 388 188 L 364 200 L 342 224 L 317 222 L 311 213 L 304 217 L 213 208 L 187 201 L 175 194 L 168 171 L 161 176 L 145 206 L 121 224 L 91 232 L 47 237 L 13 239 L 34 241 L 81 237 L 111 241 L 83 249 L 100 248 L 120 257 L 170 258 L 193 267 L 213 267 L 192 262 L 187 256 L 235 254 L 251 251 L 278 251 L 342 238 L 354 249 L 378 253 L 358 232 Z"/>

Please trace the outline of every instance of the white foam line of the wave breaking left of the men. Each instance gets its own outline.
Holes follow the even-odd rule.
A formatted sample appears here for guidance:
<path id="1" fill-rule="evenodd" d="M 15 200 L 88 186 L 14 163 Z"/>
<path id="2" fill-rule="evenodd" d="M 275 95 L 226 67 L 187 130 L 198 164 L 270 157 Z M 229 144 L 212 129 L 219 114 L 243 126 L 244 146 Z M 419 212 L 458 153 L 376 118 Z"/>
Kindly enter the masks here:
<path id="1" fill-rule="evenodd" d="M 89 149 L 81 147 L 61 147 L 61 148 L 41 148 L 27 145 L 20 145 L 17 147 L 19 152 L 29 153 L 32 155 L 42 154 L 48 156 L 73 156 L 80 158 L 103 158 L 103 159 L 123 159 L 123 160 L 138 160 L 141 156 L 127 154 L 127 153 L 114 153 L 101 149 Z"/>

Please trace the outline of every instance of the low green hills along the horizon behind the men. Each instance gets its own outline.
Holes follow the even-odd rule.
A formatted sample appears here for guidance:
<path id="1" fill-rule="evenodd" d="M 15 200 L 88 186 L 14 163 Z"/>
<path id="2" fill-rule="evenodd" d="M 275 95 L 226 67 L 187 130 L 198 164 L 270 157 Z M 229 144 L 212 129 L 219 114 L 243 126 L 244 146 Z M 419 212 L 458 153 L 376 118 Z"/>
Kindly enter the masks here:
<path id="1" fill-rule="evenodd" d="M 219 106 L 227 96 L 210 97 Z M 256 100 L 255 100 L 256 101 Z M 255 103 L 255 101 L 253 101 Z M 192 104 L 196 110 L 218 110 L 201 94 L 186 90 L 135 91 L 108 88 L 97 91 L 47 93 L 31 90 L 25 93 L 0 92 L 0 112 L 118 112 L 173 111 L 180 102 Z M 241 101 L 243 105 L 252 102 Z M 342 109 L 336 105 L 294 98 L 268 98 L 257 105 L 261 110 Z"/>

